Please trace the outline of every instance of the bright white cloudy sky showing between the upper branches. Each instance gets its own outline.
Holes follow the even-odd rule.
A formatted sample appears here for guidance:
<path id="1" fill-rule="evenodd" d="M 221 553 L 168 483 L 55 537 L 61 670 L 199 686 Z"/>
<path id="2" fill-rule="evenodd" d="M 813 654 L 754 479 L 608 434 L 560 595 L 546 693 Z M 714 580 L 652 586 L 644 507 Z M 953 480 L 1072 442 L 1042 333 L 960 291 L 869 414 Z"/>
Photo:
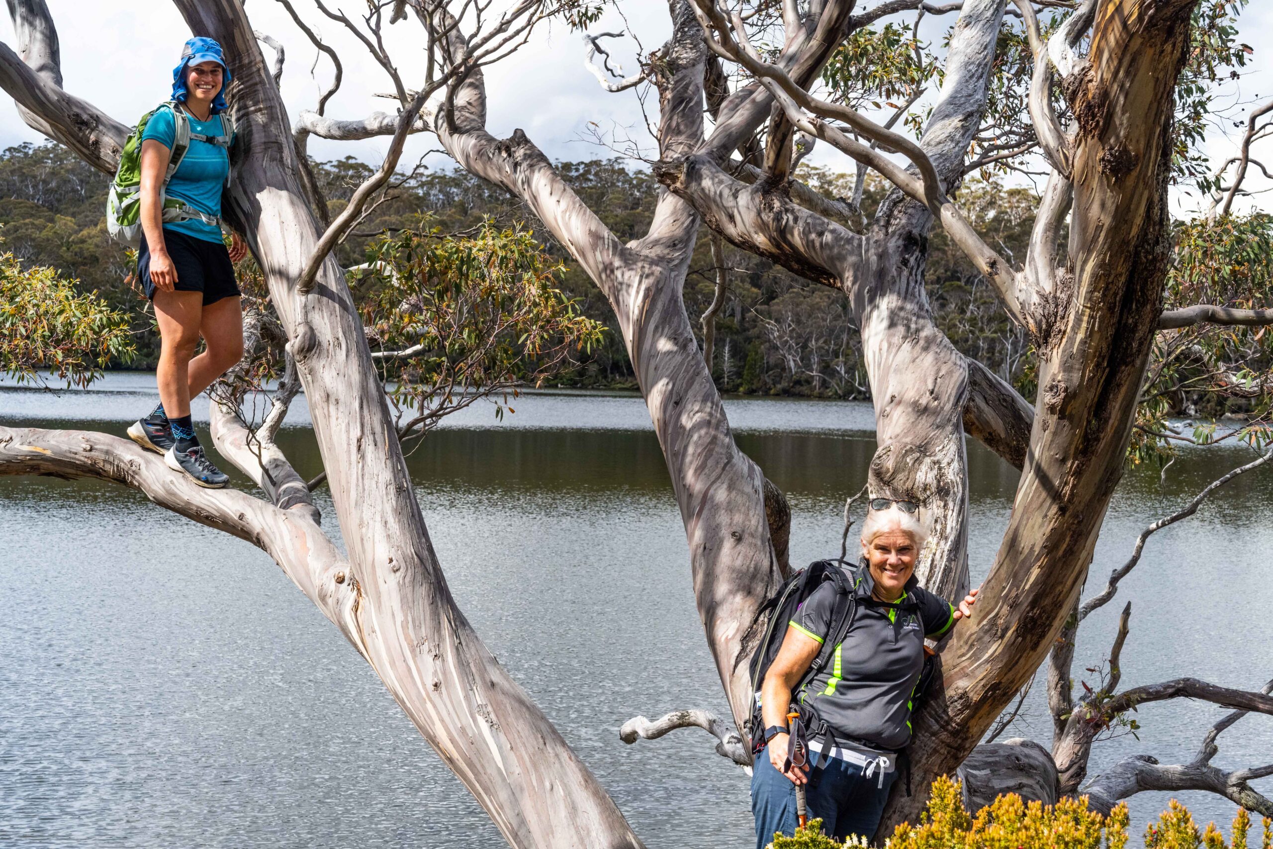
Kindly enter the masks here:
<path id="1" fill-rule="evenodd" d="M 340 52 L 344 61 L 344 85 L 328 103 L 327 115 L 356 118 L 377 109 L 392 111 L 392 101 L 374 97 L 377 92 L 390 90 L 391 87 L 387 75 L 369 59 L 365 48 L 340 24 L 323 18 L 307 0 L 295 0 L 294 5 L 309 25 Z M 336 0 L 334 5 L 344 6 L 351 18 L 365 9 L 359 0 Z M 167 99 L 172 67 L 177 64 L 182 42 L 191 34 L 171 3 L 50 0 L 50 6 L 61 38 L 62 73 L 69 92 L 95 103 L 125 123 L 134 122 Z M 300 109 L 312 108 L 320 92 L 331 80 L 331 64 L 323 56 L 314 67 L 317 51 L 295 28 L 280 4 L 274 0 L 250 0 L 247 10 L 253 27 L 283 42 L 286 50 L 283 94 L 288 109 L 295 115 Z M 667 6 L 661 0 L 630 0 L 624 4 L 624 10 L 626 22 L 611 11 L 593 24 L 592 32 L 626 29 L 635 33 L 645 52 L 667 38 Z M 0 18 L 0 38 L 13 46 L 9 19 Z M 953 15 L 931 18 L 929 22 L 927 37 L 939 45 L 942 29 L 953 23 Z M 1273 95 L 1273 50 L 1262 47 L 1267 43 L 1265 33 L 1270 29 L 1273 3 L 1254 0 L 1242 15 L 1240 32 L 1242 41 L 1255 47 L 1255 55 L 1237 87 L 1237 94 L 1230 102 L 1246 103 Z M 395 24 L 388 28 L 387 43 L 402 70 L 404 81 L 411 87 L 414 79 L 423 80 L 423 38 L 419 24 L 414 19 Z M 615 47 L 625 71 L 636 70 L 634 38 L 629 36 L 606 43 Z M 269 50 L 266 55 L 272 61 Z M 552 159 L 612 155 L 596 143 L 598 130 L 607 137 L 616 136 L 619 146 L 625 146 L 626 139 L 634 139 L 648 148 L 651 139 L 636 92 L 603 92 L 584 69 L 583 59 L 584 47 L 578 33 L 569 32 L 564 25 L 537 31 L 519 52 L 488 70 L 490 131 L 504 136 L 521 127 Z M 645 106 L 649 120 L 657 121 L 657 97 L 648 97 Z M 1235 112 L 1234 117 L 1242 116 Z M 1217 162 L 1223 160 L 1236 149 L 1239 137 L 1240 130 L 1231 123 L 1214 129 L 1208 139 L 1208 153 L 1217 157 Z M 0 146 L 41 140 L 42 136 L 18 117 L 13 102 L 0 94 Z M 435 141 L 426 135 L 414 136 L 402 164 L 414 164 L 421 154 L 437 146 Z M 316 139 L 311 143 L 311 153 L 320 159 L 354 155 L 370 162 L 379 159 L 386 143 L 386 139 L 362 143 Z M 820 145 L 811 160 L 836 169 L 850 168 L 844 157 L 829 150 L 826 145 Z M 432 167 L 443 168 L 449 159 L 433 155 L 426 162 Z M 1269 196 L 1258 196 L 1256 202 L 1264 197 Z M 1186 199 L 1178 197 L 1178 205 L 1188 202 Z M 1260 205 L 1269 207 L 1267 202 Z"/>

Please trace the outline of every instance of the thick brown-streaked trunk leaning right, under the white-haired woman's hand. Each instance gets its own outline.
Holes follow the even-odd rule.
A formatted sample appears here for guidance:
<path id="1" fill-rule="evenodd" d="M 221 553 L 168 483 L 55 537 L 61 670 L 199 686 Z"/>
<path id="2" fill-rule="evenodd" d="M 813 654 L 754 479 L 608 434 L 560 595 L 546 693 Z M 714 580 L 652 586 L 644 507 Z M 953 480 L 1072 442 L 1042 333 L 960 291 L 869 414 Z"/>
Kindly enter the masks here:
<path id="1" fill-rule="evenodd" d="M 1195 0 L 1109 0 L 1074 97 L 1072 286 L 1040 347 L 1039 410 L 975 628 L 915 719 L 919 787 L 953 769 L 1034 675 L 1082 588 L 1118 484 L 1167 269 L 1169 130 Z M 881 834 L 925 794 L 894 797 Z"/>

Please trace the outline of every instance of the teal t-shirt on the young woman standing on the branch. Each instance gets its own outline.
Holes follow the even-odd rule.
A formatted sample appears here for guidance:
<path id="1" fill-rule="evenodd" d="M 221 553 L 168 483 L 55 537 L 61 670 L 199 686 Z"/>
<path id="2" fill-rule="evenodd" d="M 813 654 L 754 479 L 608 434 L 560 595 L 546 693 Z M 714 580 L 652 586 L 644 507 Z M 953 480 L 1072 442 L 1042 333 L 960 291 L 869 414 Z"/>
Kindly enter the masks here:
<path id="1" fill-rule="evenodd" d="M 222 116 L 214 115 L 207 121 L 199 121 L 187 113 L 190 118 L 190 131 L 205 136 L 219 136 L 222 129 Z M 177 137 L 177 126 L 169 109 L 157 109 L 146 121 L 146 131 L 141 134 L 141 140 L 154 139 L 159 144 L 172 150 L 172 144 Z M 230 158 L 225 148 L 207 144 L 199 139 L 190 140 L 190 149 L 177 165 L 177 172 L 168 181 L 168 196 L 178 197 L 200 213 L 222 216 L 222 188 L 225 186 L 225 177 L 230 173 Z M 188 218 L 185 221 L 171 221 L 163 225 L 165 230 L 185 233 L 196 239 L 206 242 L 220 242 L 222 232 L 197 218 Z"/>

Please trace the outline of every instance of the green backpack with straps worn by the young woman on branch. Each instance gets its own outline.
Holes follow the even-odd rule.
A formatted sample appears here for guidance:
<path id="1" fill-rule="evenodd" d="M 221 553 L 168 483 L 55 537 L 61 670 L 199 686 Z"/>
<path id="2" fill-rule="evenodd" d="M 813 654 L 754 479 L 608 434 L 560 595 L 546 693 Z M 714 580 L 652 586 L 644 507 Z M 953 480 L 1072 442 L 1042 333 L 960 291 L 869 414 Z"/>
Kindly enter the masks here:
<path id="1" fill-rule="evenodd" d="M 115 171 L 115 179 L 111 182 L 111 191 L 106 199 L 106 229 L 111 238 L 123 244 L 137 247 L 141 243 L 141 135 L 146 131 L 146 123 L 159 109 L 169 109 L 176 126 L 176 137 L 172 144 L 172 155 L 168 157 L 168 171 L 163 176 L 163 186 L 159 196 L 163 199 L 163 220 L 185 221 L 197 218 L 205 224 L 225 229 L 222 219 L 215 215 L 201 213 L 183 200 L 168 197 L 168 181 L 177 172 L 181 160 L 190 150 L 191 139 L 206 141 L 229 151 L 230 141 L 234 140 L 234 123 L 228 113 L 222 112 L 222 131 L 224 135 L 205 136 L 190 131 L 190 117 L 176 101 L 160 103 L 155 109 L 146 112 L 137 121 L 137 126 L 129 134 L 129 140 L 123 143 L 123 153 L 120 155 L 120 167 Z M 225 176 L 225 185 L 229 185 L 229 174 Z"/>

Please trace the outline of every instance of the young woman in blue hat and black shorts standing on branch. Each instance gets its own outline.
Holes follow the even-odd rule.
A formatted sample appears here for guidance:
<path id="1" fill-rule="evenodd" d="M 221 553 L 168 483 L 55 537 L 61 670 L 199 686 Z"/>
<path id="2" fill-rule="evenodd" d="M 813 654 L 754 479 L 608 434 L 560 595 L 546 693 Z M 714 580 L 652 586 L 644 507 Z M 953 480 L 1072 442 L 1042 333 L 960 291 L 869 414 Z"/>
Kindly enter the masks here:
<path id="1" fill-rule="evenodd" d="M 229 477 L 199 444 L 190 400 L 243 356 L 242 293 L 233 262 L 247 255 L 247 246 L 234 233 L 227 249 L 220 228 L 222 190 L 230 169 L 222 93 L 229 81 L 222 46 L 191 38 L 172 73 L 172 103 L 155 109 L 141 136 L 137 276 L 154 303 L 162 347 L 155 374 L 159 406 L 131 425 L 129 437 L 207 488 L 225 486 Z M 165 188 L 182 117 L 190 122 L 190 144 Z M 191 216 L 164 220 L 165 197 L 183 201 Z M 200 337 L 205 347 L 195 356 Z"/>

